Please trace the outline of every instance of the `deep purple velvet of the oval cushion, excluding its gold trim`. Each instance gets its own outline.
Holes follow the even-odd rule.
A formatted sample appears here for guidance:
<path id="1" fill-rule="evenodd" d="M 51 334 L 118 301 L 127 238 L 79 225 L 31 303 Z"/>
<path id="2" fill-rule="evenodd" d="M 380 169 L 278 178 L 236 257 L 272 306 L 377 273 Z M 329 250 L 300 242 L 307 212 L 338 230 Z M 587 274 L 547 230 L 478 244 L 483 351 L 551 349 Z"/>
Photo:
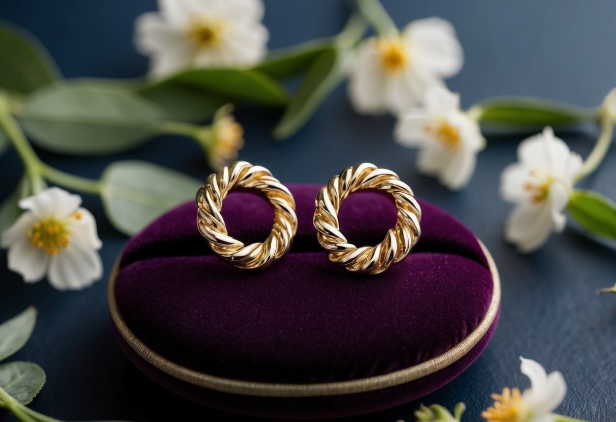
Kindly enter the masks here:
<path id="1" fill-rule="evenodd" d="M 246 381 L 323 383 L 383 375 L 431 359 L 477 327 L 493 282 L 475 237 L 453 217 L 419 200 L 422 236 L 411 254 L 378 276 L 331 264 L 312 225 L 317 185 L 291 185 L 298 233 L 265 271 L 217 258 L 197 231 L 191 202 L 163 215 L 129 241 L 116 276 L 118 311 L 132 332 L 163 357 L 200 372 Z M 363 192 L 342 203 L 342 233 L 376 244 L 395 225 L 386 194 Z M 272 210 L 261 197 L 232 193 L 222 215 L 229 234 L 262 241 Z M 206 391 L 142 360 L 147 375 L 203 404 L 257 416 L 324 418 L 391 407 L 459 375 L 485 348 L 492 328 L 455 364 L 382 391 L 336 397 L 272 399 Z"/>

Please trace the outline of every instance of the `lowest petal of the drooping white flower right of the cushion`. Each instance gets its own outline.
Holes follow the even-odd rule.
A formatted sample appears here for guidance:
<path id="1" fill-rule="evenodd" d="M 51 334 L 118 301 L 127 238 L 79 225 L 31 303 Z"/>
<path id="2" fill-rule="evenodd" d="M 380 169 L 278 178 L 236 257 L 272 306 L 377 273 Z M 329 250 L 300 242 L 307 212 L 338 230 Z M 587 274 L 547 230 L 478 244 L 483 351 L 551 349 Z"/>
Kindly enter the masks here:
<path id="1" fill-rule="evenodd" d="M 518 205 L 505 225 L 505 240 L 523 253 L 533 252 L 545 243 L 552 232 L 550 207 L 545 204 Z"/>

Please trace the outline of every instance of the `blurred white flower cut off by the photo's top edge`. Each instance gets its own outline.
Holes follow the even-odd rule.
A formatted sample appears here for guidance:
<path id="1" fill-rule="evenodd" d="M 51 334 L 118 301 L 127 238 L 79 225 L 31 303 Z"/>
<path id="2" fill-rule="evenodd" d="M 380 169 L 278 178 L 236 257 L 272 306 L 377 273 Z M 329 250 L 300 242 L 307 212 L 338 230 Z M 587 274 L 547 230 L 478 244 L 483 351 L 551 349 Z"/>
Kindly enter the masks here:
<path id="1" fill-rule="evenodd" d="M 152 73 L 185 68 L 251 66 L 267 51 L 260 0 L 159 0 L 160 12 L 135 22 L 137 49 L 152 58 Z"/>

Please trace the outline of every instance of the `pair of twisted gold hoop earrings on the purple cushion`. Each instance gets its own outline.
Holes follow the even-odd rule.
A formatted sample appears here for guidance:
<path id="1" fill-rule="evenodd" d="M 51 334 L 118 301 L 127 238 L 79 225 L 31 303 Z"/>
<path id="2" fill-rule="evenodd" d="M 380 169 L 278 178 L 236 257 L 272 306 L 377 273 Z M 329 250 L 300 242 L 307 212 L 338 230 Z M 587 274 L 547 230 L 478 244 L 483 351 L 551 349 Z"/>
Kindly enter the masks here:
<path id="1" fill-rule="evenodd" d="M 264 194 L 274 209 L 272 232 L 264 242 L 245 245 L 230 237 L 222 219 L 222 201 L 232 189 L 254 189 Z M 395 227 L 383 242 L 356 247 L 340 231 L 338 211 L 349 194 L 362 189 L 386 191 L 397 209 Z M 197 226 L 209 247 L 223 260 L 244 269 L 263 269 L 282 258 L 291 248 L 298 228 L 293 195 L 272 173 L 260 165 L 236 161 L 209 175 L 197 192 Z M 421 208 L 413 191 L 391 170 L 362 163 L 347 167 L 330 178 L 318 191 L 314 226 L 318 242 L 330 261 L 357 273 L 379 274 L 402 261 L 419 240 Z M 378 218 L 378 216 L 375 216 Z"/>

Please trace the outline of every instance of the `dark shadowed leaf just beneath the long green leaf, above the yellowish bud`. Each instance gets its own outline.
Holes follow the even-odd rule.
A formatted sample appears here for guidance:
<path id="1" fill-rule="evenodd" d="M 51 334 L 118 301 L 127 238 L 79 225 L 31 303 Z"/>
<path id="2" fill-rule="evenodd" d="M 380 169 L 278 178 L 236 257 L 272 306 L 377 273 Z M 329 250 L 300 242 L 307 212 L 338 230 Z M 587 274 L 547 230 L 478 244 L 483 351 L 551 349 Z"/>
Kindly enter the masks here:
<path id="1" fill-rule="evenodd" d="M 221 106 L 229 103 L 219 94 L 169 82 L 142 91 L 142 95 L 164 109 L 172 120 L 201 122 L 210 119 Z"/>

